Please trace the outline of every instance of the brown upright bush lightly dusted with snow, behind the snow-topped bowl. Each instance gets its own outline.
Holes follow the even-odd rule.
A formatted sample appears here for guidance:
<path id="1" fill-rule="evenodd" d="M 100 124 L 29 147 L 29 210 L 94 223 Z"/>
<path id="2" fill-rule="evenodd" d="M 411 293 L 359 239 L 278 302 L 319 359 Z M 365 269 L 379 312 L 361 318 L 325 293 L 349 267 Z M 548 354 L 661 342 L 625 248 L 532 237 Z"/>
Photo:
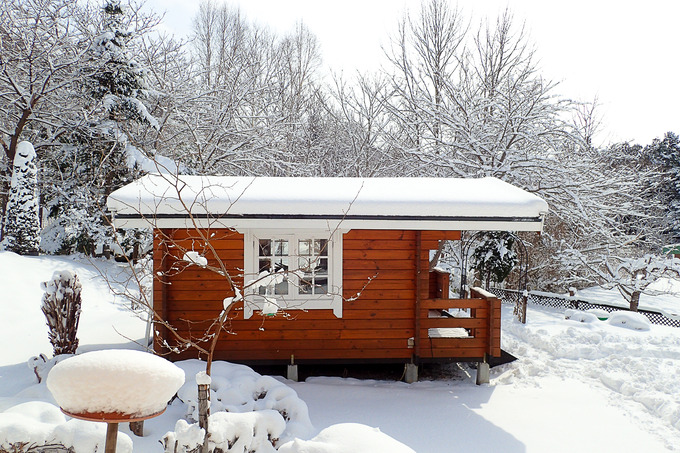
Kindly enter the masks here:
<path id="1" fill-rule="evenodd" d="M 45 291 L 41 309 L 47 319 L 47 335 L 54 355 L 75 354 L 82 290 L 78 276 L 69 271 L 57 271 L 52 280 L 43 282 L 41 286 Z"/>

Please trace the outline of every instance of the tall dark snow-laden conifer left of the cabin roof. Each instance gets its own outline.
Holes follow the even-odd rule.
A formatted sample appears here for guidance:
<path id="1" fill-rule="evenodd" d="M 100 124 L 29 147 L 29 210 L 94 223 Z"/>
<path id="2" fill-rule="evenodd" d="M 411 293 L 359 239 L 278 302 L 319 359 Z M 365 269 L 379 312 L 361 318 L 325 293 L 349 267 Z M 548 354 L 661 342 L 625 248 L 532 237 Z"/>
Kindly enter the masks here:
<path id="1" fill-rule="evenodd" d="M 122 232 L 115 239 L 101 206 L 115 189 L 146 171 L 165 168 L 140 147 L 141 131 L 157 128 L 158 122 L 144 104 L 147 71 L 139 63 L 143 56 L 135 47 L 139 24 L 134 20 L 148 27 L 155 22 L 120 0 L 105 0 L 100 12 L 99 32 L 90 38 L 87 71 L 78 85 L 91 111 L 88 121 L 74 127 L 60 147 L 58 171 L 51 169 L 53 177 L 63 181 L 60 190 L 46 197 L 49 222 L 43 249 L 98 254 L 119 253 L 123 247 L 130 256 L 141 250 L 148 235 Z"/>

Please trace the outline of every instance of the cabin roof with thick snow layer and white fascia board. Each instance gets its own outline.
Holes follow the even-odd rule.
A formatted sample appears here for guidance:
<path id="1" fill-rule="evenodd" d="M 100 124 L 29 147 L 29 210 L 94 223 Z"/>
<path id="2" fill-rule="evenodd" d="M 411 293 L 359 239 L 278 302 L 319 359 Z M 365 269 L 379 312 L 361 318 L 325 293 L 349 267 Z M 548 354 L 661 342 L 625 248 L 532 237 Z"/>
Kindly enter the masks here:
<path id="1" fill-rule="evenodd" d="M 540 231 L 547 203 L 496 178 L 147 175 L 108 197 L 119 228 Z M 191 214 L 191 215 L 189 215 Z"/>

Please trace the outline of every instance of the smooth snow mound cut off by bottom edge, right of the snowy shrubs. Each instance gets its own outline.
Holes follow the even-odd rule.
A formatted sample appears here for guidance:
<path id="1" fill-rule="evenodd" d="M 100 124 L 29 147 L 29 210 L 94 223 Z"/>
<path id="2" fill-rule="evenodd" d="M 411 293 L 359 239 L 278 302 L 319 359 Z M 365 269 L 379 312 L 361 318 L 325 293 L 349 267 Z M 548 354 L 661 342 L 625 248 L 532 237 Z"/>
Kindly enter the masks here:
<path id="1" fill-rule="evenodd" d="M 340 423 L 321 431 L 312 440 L 295 439 L 279 448 L 279 453 L 415 453 L 378 428 L 358 423 Z"/>

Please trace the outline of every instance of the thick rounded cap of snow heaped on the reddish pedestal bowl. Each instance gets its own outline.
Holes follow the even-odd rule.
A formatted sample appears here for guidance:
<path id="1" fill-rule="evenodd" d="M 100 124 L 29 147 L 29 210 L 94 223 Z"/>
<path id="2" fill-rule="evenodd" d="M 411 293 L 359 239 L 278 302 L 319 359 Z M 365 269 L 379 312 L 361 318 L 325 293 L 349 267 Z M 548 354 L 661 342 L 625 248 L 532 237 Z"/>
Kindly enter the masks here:
<path id="1" fill-rule="evenodd" d="M 184 372 L 162 357 L 125 349 L 68 358 L 47 376 L 54 399 L 74 414 L 155 414 L 183 383 Z"/>

